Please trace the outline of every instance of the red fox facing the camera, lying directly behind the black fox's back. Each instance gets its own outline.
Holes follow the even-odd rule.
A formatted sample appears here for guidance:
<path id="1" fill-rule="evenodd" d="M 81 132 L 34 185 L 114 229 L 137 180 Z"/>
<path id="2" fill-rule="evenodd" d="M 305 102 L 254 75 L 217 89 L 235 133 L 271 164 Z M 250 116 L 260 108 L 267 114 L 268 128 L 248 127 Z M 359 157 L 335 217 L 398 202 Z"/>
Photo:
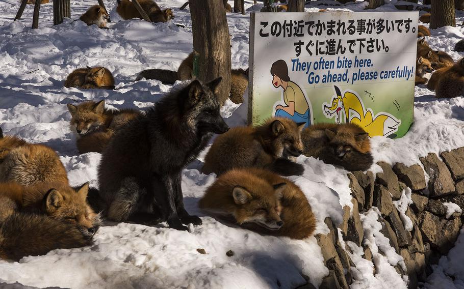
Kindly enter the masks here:
<path id="1" fill-rule="evenodd" d="M 71 113 L 70 128 L 76 135 L 80 154 L 101 153 L 116 130 L 135 119 L 141 112 L 134 109 L 109 110 L 105 101 L 67 104 Z"/>

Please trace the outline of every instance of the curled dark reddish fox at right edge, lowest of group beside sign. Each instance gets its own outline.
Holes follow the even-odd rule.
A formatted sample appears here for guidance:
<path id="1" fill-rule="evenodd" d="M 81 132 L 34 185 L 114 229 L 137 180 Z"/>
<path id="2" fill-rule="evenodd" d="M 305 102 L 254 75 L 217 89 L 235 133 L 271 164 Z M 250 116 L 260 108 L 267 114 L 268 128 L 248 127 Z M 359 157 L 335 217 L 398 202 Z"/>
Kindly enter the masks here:
<path id="1" fill-rule="evenodd" d="M 436 98 L 460 96 L 464 89 L 464 58 L 441 73 L 435 85 Z"/>

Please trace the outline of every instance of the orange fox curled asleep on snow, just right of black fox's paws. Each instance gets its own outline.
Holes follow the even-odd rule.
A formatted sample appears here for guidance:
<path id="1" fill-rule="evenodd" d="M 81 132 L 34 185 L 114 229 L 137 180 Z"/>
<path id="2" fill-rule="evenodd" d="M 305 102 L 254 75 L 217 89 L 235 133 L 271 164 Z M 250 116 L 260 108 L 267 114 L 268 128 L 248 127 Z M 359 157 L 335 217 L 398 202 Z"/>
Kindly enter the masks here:
<path id="1" fill-rule="evenodd" d="M 207 189 L 198 205 L 266 235 L 304 239 L 316 228 L 311 205 L 300 188 L 259 168 L 229 170 Z"/>

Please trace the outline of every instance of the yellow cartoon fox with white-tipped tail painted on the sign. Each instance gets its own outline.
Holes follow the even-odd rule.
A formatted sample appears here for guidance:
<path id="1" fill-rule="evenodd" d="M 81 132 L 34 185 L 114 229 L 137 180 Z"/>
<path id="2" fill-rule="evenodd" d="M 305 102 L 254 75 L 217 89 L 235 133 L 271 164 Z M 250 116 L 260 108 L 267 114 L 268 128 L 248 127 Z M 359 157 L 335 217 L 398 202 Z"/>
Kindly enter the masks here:
<path id="1" fill-rule="evenodd" d="M 346 123 L 357 124 L 370 137 L 376 135 L 389 136 L 398 130 L 401 124 L 400 120 L 397 120 L 386 112 L 378 113 L 374 118 L 372 109 L 364 108 L 363 102 L 354 92 L 346 91 L 342 96 L 340 89 L 337 86 L 334 86 L 334 88 L 336 97 L 332 99 L 331 106 L 328 106 L 328 103 L 324 104 L 324 113 L 327 114 L 326 118 L 332 118 L 333 115 L 336 115 L 336 121 L 340 124 L 342 123 L 341 113 L 343 111 L 345 112 Z"/>

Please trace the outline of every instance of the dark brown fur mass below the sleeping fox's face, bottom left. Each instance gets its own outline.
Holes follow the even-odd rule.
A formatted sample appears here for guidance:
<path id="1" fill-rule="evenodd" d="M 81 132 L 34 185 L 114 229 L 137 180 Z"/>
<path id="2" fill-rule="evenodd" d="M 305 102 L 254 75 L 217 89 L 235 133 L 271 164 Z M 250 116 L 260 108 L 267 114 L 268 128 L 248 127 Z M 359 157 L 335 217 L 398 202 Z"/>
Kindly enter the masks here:
<path id="1" fill-rule="evenodd" d="M 90 246 L 93 235 L 43 214 L 14 212 L 0 224 L 0 259 L 19 261 L 55 249 Z"/>

